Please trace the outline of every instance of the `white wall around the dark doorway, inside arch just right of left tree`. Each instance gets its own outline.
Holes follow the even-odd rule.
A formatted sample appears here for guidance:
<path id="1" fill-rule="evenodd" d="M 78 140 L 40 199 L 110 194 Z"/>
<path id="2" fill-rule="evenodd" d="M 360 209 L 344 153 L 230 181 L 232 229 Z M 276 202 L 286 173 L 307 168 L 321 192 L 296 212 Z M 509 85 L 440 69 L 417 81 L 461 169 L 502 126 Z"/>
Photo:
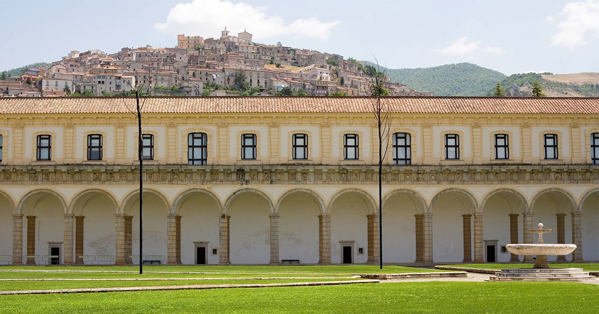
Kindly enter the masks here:
<path id="1" fill-rule="evenodd" d="M 181 263 L 195 263 L 195 244 L 208 242 L 206 263 L 218 264 L 219 256 L 211 248 L 219 248 L 219 208 L 212 197 L 194 193 L 181 202 L 177 213 L 181 216 Z"/>

